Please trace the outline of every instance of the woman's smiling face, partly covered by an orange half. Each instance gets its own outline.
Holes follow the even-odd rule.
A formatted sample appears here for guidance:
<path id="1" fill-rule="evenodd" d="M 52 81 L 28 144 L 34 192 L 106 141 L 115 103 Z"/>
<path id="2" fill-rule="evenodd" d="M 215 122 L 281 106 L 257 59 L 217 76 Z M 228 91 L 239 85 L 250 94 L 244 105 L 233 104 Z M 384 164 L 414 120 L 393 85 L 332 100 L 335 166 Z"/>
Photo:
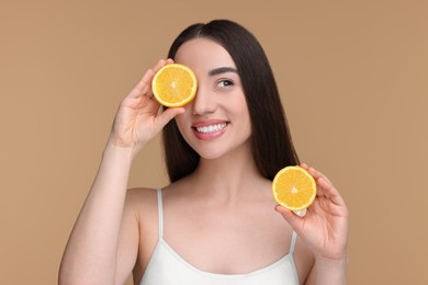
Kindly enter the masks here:
<path id="1" fill-rule="evenodd" d="M 209 38 L 185 42 L 174 61 L 196 75 L 198 91 L 176 122 L 185 141 L 202 157 L 219 158 L 249 149 L 251 125 L 240 78 L 230 55 Z"/>

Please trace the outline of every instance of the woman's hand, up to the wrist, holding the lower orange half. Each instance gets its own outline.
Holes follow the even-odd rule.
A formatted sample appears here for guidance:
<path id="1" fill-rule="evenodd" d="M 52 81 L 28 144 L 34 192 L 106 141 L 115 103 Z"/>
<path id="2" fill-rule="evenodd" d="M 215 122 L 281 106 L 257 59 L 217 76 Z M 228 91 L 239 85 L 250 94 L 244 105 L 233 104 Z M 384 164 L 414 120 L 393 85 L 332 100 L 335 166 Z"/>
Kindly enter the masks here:
<path id="1" fill-rule="evenodd" d="M 339 192 L 319 171 L 301 164 L 315 179 L 317 196 L 300 217 L 278 205 L 275 210 L 282 214 L 299 237 L 313 250 L 315 259 L 329 261 L 346 260 L 348 240 L 348 208 Z"/>

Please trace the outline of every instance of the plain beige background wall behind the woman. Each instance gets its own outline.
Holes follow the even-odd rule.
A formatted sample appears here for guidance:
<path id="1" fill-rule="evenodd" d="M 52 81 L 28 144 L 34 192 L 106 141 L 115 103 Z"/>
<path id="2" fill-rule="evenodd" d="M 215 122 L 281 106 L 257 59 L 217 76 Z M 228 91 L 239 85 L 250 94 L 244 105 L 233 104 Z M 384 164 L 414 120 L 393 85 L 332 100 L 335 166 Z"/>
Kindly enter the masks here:
<path id="1" fill-rule="evenodd" d="M 193 22 L 247 26 L 303 161 L 351 213 L 349 284 L 428 284 L 427 1 L 1 1 L 0 284 L 55 284 L 121 99 Z M 129 186 L 167 182 L 153 141 Z"/>

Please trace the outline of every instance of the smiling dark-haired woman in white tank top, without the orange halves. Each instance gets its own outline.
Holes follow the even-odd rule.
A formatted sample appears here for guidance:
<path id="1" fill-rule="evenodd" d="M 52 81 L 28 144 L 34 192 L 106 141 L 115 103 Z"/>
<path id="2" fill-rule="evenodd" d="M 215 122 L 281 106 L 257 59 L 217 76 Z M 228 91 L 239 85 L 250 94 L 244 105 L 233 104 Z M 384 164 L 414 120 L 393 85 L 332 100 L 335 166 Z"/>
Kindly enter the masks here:
<path id="1" fill-rule="evenodd" d="M 121 103 L 61 262 L 60 284 L 346 284 L 348 210 L 306 164 L 318 197 L 305 217 L 275 205 L 271 180 L 297 164 L 257 39 L 230 21 L 184 30 Z M 150 81 L 164 65 L 199 88 L 166 109 Z M 161 129 L 171 184 L 126 191 L 133 158 Z M 279 215 L 277 212 L 281 215 Z"/>

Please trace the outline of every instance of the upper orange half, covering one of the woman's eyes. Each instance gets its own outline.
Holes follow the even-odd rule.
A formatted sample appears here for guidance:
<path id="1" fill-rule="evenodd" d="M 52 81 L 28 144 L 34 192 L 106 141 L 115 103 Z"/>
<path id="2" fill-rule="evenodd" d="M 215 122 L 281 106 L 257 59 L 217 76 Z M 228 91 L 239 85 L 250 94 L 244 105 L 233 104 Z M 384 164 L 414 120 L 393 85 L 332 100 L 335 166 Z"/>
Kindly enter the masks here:
<path id="1" fill-rule="evenodd" d="M 164 66 L 151 81 L 156 100 L 167 107 L 185 105 L 196 94 L 196 88 L 198 80 L 194 72 L 181 64 Z"/>

